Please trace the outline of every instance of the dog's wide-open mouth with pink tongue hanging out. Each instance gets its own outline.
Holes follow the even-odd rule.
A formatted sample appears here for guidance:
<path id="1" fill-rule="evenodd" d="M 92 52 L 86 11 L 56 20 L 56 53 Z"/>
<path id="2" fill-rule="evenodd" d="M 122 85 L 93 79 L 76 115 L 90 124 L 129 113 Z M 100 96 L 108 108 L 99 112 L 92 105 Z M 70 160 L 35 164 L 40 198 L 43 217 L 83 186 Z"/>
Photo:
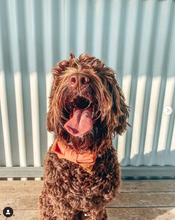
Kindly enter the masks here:
<path id="1" fill-rule="evenodd" d="M 70 102 L 70 119 L 64 128 L 73 136 L 82 136 L 93 128 L 95 106 L 90 99 L 76 97 Z"/>

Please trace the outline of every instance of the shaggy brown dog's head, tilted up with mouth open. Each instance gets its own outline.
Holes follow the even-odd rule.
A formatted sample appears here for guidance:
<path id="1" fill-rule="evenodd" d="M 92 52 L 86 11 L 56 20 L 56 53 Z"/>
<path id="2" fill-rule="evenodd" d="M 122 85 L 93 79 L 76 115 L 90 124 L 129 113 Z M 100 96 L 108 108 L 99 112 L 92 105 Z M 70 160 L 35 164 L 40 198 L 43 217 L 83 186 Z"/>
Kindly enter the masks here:
<path id="1" fill-rule="evenodd" d="M 127 127 L 129 107 L 115 72 L 102 60 L 88 54 L 53 68 L 47 129 L 74 150 L 95 151 L 103 140 L 122 134 Z"/>

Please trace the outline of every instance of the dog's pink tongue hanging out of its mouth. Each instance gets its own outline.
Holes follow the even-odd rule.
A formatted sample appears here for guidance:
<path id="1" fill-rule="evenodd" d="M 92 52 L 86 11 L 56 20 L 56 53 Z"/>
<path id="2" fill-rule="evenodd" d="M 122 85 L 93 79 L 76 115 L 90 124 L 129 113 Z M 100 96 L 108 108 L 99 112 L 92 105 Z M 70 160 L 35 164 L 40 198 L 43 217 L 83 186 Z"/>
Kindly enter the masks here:
<path id="1" fill-rule="evenodd" d="M 92 108 L 82 110 L 75 108 L 73 117 L 66 122 L 64 128 L 74 136 L 81 136 L 92 130 Z"/>

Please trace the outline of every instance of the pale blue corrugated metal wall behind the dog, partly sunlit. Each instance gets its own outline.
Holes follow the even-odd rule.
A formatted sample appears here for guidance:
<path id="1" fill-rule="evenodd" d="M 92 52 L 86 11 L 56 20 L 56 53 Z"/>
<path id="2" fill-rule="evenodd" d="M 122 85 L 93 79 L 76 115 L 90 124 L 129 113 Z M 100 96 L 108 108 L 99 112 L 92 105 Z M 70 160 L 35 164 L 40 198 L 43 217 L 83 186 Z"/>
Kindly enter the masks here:
<path id="1" fill-rule="evenodd" d="M 175 166 L 174 39 L 173 0 L 1 0 L 0 166 L 42 165 L 50 69 L 70 51 L 118 73 L 133 126 L 114 139 L 121 165 Z"/>

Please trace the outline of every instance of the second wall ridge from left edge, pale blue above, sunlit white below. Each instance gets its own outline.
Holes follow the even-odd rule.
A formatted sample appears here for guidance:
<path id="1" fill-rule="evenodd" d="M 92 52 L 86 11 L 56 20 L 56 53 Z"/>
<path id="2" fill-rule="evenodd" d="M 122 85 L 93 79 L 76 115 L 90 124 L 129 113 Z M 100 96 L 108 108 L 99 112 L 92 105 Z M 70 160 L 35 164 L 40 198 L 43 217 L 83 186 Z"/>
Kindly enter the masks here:
<path id="1" fill-rule="evenodd" d="M 21 167 L 26 167 L 26 146 L 25 146 L 25 129 L 24 129 L 24 114 L 23 114 L 23 93 L 22 79 L 19 68 L 19 45 L 17 36 L 17 16 L 15 1 L 8 0 L 9 14 L 9 34 L 10 38 L 12 71 L 14 73 L 15 82 L 15 98 L 16 98 L 16 113 L 17 113 L 17 129 L 18 129 L 18 147 L 19 147 L 19 163 Z M 26 180 L 22 178 L 21 180 Z"/>

